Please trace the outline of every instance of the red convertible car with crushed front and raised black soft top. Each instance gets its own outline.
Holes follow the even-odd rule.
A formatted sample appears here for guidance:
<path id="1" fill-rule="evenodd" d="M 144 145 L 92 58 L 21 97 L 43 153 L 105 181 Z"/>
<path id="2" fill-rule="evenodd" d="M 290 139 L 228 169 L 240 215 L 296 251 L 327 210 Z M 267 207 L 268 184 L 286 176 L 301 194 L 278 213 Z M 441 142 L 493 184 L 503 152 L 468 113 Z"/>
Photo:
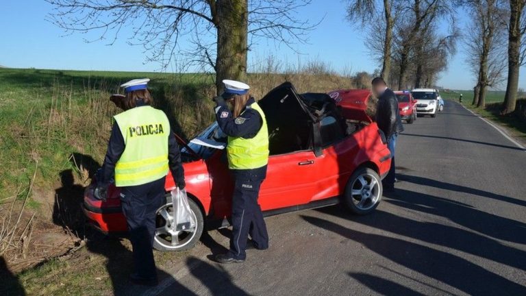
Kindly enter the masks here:
<path id="1" fill-rule="evenodd" d="M 390 152 L 382 134 L 366 114 L 367 90 L 299 95 L 290 83 L 281 84 L 259 104 L 266 114 L 270 158 L 259 203 L 266 216 L 341 203 L 355 214 L 368 214 L 379 204 L 381 179 L 390 167 Z M 166 204 L 157 212 L 154 246 L 160 251 L 190 249 L 207 229 L 229 225 L 231 180 L 227 138 L 213 123 L 190 143 L 181 142 L 190 208 L 197 225 L 177 232 L 172 221 L 166 178 Z M 107 201 L 93 197 L 88 186 L 84 212 L 105 233 L 125 232 L 118 188 Z"/>

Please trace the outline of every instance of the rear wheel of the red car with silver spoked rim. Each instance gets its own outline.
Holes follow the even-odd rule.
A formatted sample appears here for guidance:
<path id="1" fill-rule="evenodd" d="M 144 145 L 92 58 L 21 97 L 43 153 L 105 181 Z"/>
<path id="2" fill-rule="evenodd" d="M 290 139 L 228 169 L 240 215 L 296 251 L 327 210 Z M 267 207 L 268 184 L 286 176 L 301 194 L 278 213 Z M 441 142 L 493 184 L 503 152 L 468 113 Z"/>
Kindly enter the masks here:
<path id="1" fill-rule="evenodd" d="M 380 203 L 381 194 L 380 176 L 373 169 L 361 167 L 349 178 L 344 202 L 353 214 L 369 214 Z"/>

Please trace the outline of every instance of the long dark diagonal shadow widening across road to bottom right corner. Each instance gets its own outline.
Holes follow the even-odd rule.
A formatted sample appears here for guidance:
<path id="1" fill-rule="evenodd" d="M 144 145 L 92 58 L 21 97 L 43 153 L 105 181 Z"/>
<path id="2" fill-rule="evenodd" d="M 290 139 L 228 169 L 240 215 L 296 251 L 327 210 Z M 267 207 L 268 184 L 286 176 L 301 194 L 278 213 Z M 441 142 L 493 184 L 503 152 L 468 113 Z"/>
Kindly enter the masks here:
<path id="1" fill-rule="evenodd" d="M 399 238 L 351 230 L 325 219 L 305 215 L 301 217 L 316 227 L 361 243 L 379 256 L 458 288 L 468 295 L 526 295 L 526 286 L 453 254 Z"/>

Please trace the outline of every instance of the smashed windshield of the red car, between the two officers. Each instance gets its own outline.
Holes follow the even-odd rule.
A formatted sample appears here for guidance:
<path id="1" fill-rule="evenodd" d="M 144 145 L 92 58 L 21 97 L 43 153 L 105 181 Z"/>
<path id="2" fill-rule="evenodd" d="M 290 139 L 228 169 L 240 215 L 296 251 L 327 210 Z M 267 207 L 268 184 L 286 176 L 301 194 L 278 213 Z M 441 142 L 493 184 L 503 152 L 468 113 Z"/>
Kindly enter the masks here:
<path id="1" fill-rule="evenodd" d="M 201 132 L 201 134 L 193 138 L 190 143 L 188 143 L 188 147 L 195 151 L 199 158 L 205 160 L 210 158 L 210 156 L 212 156 L 212 154 L 214 154 L 217 149 L 221 149 L 218 147 L 224 147 L 226 143 L 227 136 L 219 128 L 219 125 L 216 121 L 207 127 L 203 132 Z M 193 154 L 188 151 L 186 147 L 181 148 L 181 153 L 193 156 Z"/>

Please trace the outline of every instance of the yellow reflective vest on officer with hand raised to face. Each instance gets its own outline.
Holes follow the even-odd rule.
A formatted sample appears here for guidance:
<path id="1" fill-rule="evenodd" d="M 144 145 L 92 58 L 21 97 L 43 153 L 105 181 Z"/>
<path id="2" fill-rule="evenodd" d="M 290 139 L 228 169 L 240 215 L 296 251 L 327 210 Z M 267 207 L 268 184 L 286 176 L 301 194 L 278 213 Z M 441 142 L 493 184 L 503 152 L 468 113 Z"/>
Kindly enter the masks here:
<path id="1" fill-rule="evenodd" d="M 258 169 L 268 164 L 268 128 L 265 114 L 258 103 L 253 103 L 247 108 L 252 108 L 260 114 L 263 125 L 253 138 L 228 137 L 227 156 L 230 169 Z"/>

